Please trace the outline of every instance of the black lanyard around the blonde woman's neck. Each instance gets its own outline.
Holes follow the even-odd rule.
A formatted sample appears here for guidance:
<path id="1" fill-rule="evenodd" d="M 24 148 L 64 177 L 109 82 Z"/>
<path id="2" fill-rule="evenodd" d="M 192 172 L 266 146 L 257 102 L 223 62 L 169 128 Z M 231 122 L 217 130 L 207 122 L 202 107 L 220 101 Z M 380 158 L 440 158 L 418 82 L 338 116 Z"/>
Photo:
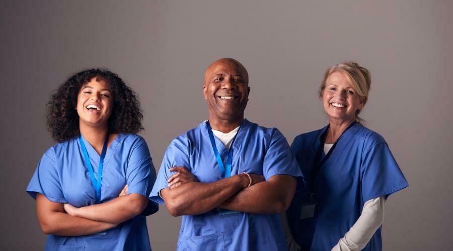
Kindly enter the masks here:
<path id="1" fill-rule="evenodd" d="M 316 180 L 316 176 L 318 175 L 319 173 L 319 170 L 321 169 L 321 167 L 324 165 L 324 163 L 326 163 L 327 159 L 330 157 L 330 155 L 332 154 L 333 150 L 335 149 L 335 146 L 337 145 L 338 141 L 340 140 L 341 136 L 346 132 L 348 131 L 349 128 L 351 128 L 352 126 L 354 126 L 354 124 L 356 124 L 357 122 L 353 122 L 352 124 L 349 125 L 348 128 L 346 128 L 346 130 L 344 130 L 344 132 L 340 135 L 340 137 L 338 137 L 338 139 L 335 141 L 335 143 L 333 144 L 333 146 L 330 148 L 330 151 L 326 154 L 326 156 L 324 156 L 324 158 L 321 158 L 323 156 L 323 151 L 324 151 L 324 142 L 326 140 L 326 136 L 327 136 L 327 132 L 329 131 L 329 126 L 327 126 L 327 129 L 326 131 L 324 131 L 321 136 L 319 137 L 319 147 L 318 147 L 318 150 L 316 151 L 316 155 L 315 155 L 315 160 L 313 161 L 313 167 L 312 169 L 310 170 L 310 184 L 309 184 L 309 195 L 310 195 L 310 201 L 313 200 L 313 195 L 315 194 L 315 180 Z"/>

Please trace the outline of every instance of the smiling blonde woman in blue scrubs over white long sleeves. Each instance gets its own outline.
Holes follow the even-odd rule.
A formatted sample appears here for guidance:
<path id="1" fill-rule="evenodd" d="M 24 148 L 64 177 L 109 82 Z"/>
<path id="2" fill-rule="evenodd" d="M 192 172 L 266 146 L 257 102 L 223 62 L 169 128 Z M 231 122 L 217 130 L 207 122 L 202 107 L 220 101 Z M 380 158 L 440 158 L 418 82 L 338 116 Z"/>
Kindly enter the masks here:
<path id="1" fill-rule="evenodd" d="M 287 211 L 291 249 L 382 249 L 384 204 L 408 184 L 384 138 L 360 123 L 370 86 L 355 62 L 324 75 L 319 97 L 329 124 L 291 146 L 308 184 Z"/>

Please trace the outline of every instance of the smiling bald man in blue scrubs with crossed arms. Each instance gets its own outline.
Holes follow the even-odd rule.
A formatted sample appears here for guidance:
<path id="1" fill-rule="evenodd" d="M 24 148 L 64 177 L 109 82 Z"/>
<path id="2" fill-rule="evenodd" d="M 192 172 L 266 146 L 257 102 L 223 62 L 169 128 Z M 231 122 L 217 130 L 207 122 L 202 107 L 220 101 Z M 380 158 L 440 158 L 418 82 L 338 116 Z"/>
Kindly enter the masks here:
<path id="1" fill-rule="evenodd" d="M 244 119 L 245 67 L 222 58 L 207 67 L 209 120 L 174 139 L 150 199 L 183 216 L 177 250 L 286 250 L 278 213 L 301 172 L 285 137 Z"/>

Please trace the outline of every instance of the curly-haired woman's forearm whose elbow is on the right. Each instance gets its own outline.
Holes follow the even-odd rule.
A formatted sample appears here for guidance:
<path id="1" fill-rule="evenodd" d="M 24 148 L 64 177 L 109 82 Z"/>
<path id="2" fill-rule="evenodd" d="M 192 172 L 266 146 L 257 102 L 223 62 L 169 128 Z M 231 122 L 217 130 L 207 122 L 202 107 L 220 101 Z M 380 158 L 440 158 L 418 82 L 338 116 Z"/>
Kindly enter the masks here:
<path id="1" fill-rule="evenodd" d="M 73 215 L 94 221 L 119 224 L 140 214 L 147 204 L 146 197 L 133 193 L 105 203 L 78 208 L 74 210 Z"/>

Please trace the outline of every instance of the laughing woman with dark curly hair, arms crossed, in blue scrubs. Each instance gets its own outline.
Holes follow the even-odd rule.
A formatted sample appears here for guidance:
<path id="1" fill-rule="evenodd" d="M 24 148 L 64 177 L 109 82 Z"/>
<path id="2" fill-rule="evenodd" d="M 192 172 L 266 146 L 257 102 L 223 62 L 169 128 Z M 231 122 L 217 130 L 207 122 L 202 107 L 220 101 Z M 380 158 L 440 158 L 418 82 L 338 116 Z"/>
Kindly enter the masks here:
<path id="1" fill-rule="evenodd" d="M 28 185 L 46 250 L 150 250 L 156 171 L 136 94 L 103 69 L 71 76 L 47 105 L 48 149 Z"/>

